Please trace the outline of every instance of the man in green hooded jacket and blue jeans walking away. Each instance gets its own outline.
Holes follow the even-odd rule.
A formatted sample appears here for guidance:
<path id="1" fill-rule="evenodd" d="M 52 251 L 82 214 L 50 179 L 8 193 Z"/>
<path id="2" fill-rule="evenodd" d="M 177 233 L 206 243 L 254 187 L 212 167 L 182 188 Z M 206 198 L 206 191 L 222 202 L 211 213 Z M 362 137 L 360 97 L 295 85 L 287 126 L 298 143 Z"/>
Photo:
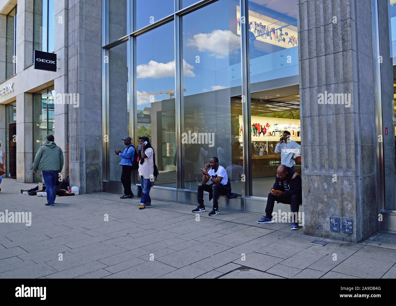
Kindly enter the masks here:
<path id="1" fill-rule="evenodd" d="M 47 204 L 53 206 L 56 197 L 56 180 L 59 172 L 63 168 L 63 152 L 54 141 L 53 135 L 47 135 L 46 143 L 42 145 L 36 153 L 32 169 L 33 173 L 37 170 L 43 171 L 44 184 L 46 185 Z"/>

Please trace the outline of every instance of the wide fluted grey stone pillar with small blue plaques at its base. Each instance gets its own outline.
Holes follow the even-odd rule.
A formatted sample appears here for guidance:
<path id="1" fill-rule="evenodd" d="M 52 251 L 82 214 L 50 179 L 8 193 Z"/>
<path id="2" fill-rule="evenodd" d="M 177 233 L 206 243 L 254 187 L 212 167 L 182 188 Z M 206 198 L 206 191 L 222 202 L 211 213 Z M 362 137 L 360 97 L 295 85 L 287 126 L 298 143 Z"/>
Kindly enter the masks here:
<path id="1" fill-rule="evenodd" d="M 358 242 L 378 230 L 371 2 L 297 8 L 304 233 Z M 350 107 L 321 93 L 350 94 Z M 352 234 L 330 231 L 331 216 L 352 219 Z"/>

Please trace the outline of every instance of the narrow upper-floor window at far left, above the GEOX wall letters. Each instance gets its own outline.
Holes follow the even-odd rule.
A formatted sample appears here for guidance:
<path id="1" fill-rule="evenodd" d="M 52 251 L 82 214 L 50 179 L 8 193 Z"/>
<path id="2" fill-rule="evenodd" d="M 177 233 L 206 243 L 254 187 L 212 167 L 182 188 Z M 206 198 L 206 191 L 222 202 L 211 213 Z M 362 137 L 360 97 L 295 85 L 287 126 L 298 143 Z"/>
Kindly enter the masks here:
<path id="1" fill-rule="evenodd" d="M 16 70 L 15 60 L 15 38 L 17 32 L 17 7 L 13 8 L 7 15 L 7 30 L 6 30 L 6 79 L 13 76 Z"/>

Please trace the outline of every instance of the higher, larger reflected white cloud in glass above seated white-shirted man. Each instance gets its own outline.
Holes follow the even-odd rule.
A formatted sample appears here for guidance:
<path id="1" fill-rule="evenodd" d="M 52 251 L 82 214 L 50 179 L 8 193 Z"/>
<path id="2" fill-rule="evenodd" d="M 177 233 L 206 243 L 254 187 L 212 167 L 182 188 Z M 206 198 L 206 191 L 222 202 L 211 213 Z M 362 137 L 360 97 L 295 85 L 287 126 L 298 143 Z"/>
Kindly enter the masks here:
<path id="1" fill-rule="evenodd" d="M 209 56 L 216 56 L 223 59 L 228 55 L 228 46 L 240 42 L 239 36 L 230 30 L 214 30 L 211 33 L 195 34 L 193 39 L 189 39 L 188 46 L 198 47 L 198 51 L 208 51 Z"/>

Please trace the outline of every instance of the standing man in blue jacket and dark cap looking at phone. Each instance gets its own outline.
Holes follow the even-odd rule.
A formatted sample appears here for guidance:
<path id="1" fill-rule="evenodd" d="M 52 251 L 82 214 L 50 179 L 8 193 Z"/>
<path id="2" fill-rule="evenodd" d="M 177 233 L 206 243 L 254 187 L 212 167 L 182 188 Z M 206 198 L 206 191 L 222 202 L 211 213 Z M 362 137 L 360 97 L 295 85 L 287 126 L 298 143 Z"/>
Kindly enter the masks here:
<path id="1" fill-rule="evenodd" d="M 121 157 L 120 165 L 122 165 L 121 183 L 124 186 L 124 195 L 120 196 L 121 199 L 133 198 L 133 193 L 131 191 L 131 172 L 133 170 L 133 158 L 135 156 L 135 148 L 133 147 L 129 136 L 123 138 L 124 145 L 126 148 L 124 152 L 120 150 L 115 151 L 115 154 Z"/>

